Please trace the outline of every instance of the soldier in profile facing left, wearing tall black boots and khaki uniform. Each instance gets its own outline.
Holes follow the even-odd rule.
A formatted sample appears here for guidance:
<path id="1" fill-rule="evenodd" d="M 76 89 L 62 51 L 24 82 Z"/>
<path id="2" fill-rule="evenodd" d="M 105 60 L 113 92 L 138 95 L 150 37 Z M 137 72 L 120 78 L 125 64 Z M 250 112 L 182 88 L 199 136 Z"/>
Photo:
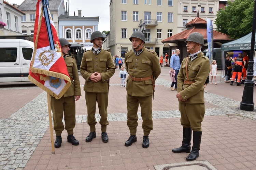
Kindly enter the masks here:
<path id="1" fill-rule="evenodd" d="M 203 121 L 204 91 L 203 85 L 210 72 L 210 61 L 201 52 L 204 44 L 202 34 L 191 33 L 187 40 L 187 52 L 191 55 L 186 56 L 181 63 L 181 70 L 177 76 L 177 95 L 179 110 L 181 112 L 181 125 L 183 126 L 182 146 L 173 149 L 174 153 L 190 152 L 190 141 L 193 130 L 193 147 L 186 160 L 195 160 L 199 156 Z"/>

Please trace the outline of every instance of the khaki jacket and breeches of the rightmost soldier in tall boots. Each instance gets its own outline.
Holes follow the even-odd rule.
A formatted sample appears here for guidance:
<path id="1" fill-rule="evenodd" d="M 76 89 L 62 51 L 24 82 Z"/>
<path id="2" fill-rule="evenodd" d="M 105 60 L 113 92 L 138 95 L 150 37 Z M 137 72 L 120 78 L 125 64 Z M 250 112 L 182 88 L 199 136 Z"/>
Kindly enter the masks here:
<path id="1" fill-rule="evenodd" d="M 184 84 L 184 80 L 187 80 L 185 64 L 189 56 L 183 59 L 181 70 L 177 75 L 177 91 L 186 100 L 179 102 L 181 124 L 184 128 L 191 127 L 193 131 L 201 131 L 201 122 L 205 113 L 203 85 L 210 73 L 209 59 L 202 52 L 197 55 L 198 57 L 192 62 L 189 58 L 187 63 L 188 77 L 195 83 Z"/>

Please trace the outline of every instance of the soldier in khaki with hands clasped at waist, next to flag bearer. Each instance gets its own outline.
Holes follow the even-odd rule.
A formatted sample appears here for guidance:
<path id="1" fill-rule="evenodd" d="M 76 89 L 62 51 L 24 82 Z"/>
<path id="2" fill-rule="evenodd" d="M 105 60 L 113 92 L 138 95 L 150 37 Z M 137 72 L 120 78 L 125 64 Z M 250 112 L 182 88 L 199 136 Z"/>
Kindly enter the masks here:
<path id="1" fill-rule="evenodd" d="M 91 34 L 91 43 L 93 48 L 84 52 L 80 66 L 80 73 L 85 79 L 84 91 L 87 106 L 87 123 L 90 125 L 90 133 L 86 137 L 86 142 L 96 138 L 97 123 L 95 118 L 96 102 L 98 102 L 101 124 L 101 138 L 103 142 L 108 142 L 106 133 L 108 122 L 108 79 L 115 73 L 115 65 L 109 51 L 101 48 L 103 35 L 99 31 Z"/>

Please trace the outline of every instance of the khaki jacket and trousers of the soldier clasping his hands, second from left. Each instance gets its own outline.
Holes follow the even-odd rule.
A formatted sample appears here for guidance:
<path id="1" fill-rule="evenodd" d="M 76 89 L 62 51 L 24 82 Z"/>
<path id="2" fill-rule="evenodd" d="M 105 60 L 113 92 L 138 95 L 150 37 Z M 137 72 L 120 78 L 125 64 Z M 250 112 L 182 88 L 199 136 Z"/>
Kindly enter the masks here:
<path id="1" fill-rule="evenodd" d="M 93 82 L 91 81 L 90 75 L 94 72 L 99 72 L 101 74 L 101 81 Z M 113 58 L 109 51 L 103 50 L 99 54 L 95 54 L 89 50 L 84 52 L 80 73 L 85 79 L 84 91 L 85 91 L 85 101 L 87 106 L 87 123 L 90 125 L 90 131 L 94 132 L 96 130 L 95 124 L 97 123 L 95 118 L 96 112 L 96 101 L 98 102 L 101 131 L 106 132 L 106 125 L 108 122 L 108 79 L 110 79 L 115 73 L 115 65 L 113 63 Z"/>

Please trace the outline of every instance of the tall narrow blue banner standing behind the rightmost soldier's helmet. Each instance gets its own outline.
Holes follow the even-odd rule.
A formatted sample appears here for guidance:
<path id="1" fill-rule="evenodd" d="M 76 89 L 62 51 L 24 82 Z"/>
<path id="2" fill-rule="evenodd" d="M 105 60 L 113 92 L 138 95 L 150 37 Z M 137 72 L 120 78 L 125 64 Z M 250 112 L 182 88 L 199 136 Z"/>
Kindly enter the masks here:
<path id="1" fill-rule="evenodd" d="M 213 59 L 213 28 L 212 28 L 212 21 L 207 18 L 207 44 L 208 44 L 208 52 L 209 52 L 209 59 L 212 63 Z"/>

